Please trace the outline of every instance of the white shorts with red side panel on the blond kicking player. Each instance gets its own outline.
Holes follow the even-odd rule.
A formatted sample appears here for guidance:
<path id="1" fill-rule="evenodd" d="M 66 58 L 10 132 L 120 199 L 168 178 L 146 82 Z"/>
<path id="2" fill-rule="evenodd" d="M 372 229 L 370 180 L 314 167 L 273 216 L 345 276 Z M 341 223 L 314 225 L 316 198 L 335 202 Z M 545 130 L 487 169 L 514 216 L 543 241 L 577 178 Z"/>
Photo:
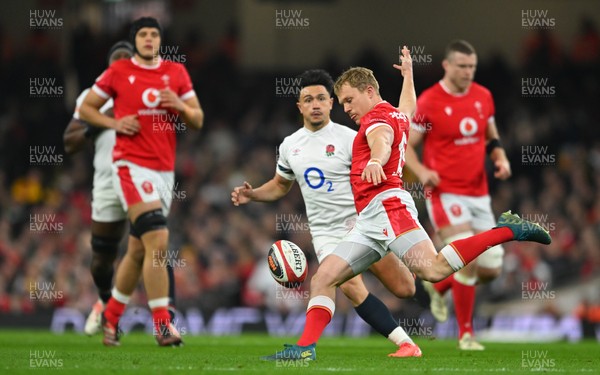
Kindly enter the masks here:
<path id="1" fill-rule="evenodd" d="M 419 223 L 410 193 L 390 189 L 369 202 L 333 254 L 345 259 L 356 275 L 387 255 L 392 242 L 394 253 L 402 259 L 414 244 L 424 240 L 430 239 Z"/>

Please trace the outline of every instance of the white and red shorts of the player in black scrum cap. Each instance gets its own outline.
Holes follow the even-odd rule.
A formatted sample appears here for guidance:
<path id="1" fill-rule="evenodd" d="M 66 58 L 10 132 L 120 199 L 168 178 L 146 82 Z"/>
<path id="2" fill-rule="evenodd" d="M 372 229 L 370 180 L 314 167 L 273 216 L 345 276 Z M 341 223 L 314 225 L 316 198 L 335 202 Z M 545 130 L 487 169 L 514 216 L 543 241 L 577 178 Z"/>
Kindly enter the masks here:
<path id="1" fill-rule="evenodd" d="M 136 203 L 159 200 L 163 215 L 168 216 L 174 181 L 172 171 L 155 171 L 126 160 L 113 163 L 113 185 L 125 210 Z"/>

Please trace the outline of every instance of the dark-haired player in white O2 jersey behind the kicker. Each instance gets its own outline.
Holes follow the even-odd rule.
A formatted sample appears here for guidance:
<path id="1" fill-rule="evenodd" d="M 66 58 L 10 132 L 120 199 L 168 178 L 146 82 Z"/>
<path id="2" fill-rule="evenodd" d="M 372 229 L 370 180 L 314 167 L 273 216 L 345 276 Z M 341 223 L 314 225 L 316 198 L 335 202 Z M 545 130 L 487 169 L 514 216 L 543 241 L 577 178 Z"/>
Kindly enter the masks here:
<path id="1" fill-rule="evenodd" d="M 356 131 L 330 119 L 333 80 L 327 72 L 308 70 L 300 75 L 300 80 L 296 105 L 302 114 L 303 127 L 281 143 L 275 176 L 256 189 L 245 182 L 234 188 L 231 200 L 236 206 L 250 201 L 272 202 L 285 196 L 297 181 L 321 263 L 356 221 L 349 174 Z M 370 269 L 397 297 L 414 294 L 412 274 L 393 254 Z M 340 289 L 365 322 L 398 345 L 398 350 L 390 356 L 421 356 L 419 347 L 394 321 L 385 304 L 369 293 L 361 275 L 346 281 Z"/>

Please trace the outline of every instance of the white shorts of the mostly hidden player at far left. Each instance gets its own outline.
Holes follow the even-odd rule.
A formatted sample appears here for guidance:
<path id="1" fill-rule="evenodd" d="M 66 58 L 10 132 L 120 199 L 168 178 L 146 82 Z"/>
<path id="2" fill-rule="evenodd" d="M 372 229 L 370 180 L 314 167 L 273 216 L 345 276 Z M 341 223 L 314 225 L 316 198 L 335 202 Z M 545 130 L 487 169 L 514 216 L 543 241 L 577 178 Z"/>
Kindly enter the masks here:
<path id="1" fill-rule="evenodd" d="M 107 177 L 98 177 L 97 172 L 94 172 L 92 220 L 101 223 L 125 220 L 127 212 L 123 209 L 115 192 L 111 175 L 109 174 Z"/>

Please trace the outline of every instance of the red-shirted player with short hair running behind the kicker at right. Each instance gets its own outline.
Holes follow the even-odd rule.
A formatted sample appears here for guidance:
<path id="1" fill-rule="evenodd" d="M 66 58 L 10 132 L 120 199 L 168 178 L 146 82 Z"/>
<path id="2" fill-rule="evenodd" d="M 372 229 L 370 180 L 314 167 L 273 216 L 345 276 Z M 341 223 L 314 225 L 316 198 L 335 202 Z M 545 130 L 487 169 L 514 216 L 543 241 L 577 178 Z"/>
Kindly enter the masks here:
<path id="1" fill-rule="evenodd" d="M 449 244 L 495 226 L 486 154 L 494 163 L 495 178 L 509 178 L 511 169 L 494 120 L 492 94 L 473 82 L 477 68 L 473 46 L 464 40 L 451 42 L 442 66 L 444 77 L 419 96 L 406 164 L 431 190 L 426 201 L 429 218 L 442 241 Z M 414 151 L 420 143 L 422 163 Z M 503 255 L 502 246 L 494 246 L 447 279 L 435 285 L 425 283 L 431 311 L 440 321 L 448 314 L 442 296 L 452 289 L 462 350 L 484 349 L 473 334 L 475 285 L 500 274 Z"/>

